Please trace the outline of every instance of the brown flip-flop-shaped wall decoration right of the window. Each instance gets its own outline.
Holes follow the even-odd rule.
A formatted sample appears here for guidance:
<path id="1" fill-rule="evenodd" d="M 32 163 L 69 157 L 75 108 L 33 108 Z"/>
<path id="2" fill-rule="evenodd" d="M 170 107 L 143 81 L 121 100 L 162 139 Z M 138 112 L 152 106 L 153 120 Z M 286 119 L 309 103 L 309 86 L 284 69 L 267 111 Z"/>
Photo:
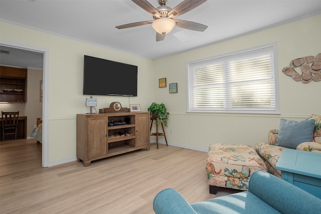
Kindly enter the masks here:
<path id="1" fill-rule="evenodd" d="M 294 69 L 295 68 L 295 69 Z M 301 70 L 301 73 L 296 70 Z M 294 59 L 290 65 L 284 67 L 282 72 L 292 77 L 294 81 L 306 84 L 311 81 L 321 81 L 321 53 L 314 56 L 306 56 Z"/>

